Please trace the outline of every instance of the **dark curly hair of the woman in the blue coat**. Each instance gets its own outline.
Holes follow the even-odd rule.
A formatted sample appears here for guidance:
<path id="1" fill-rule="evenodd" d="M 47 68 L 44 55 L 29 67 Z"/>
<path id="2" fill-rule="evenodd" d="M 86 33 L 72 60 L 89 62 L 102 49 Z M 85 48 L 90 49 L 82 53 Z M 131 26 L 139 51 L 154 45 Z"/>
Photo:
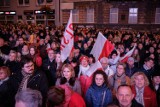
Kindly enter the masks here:
<path id="1" fill-rule="evenodd" d="M 95 84 L 95 78 L 96 78 L 96 75 L 97 74 L 101 74 L 103 75 L 103 78 L 104 78 L 104 84 L 106 84 L 106 86 L 108 86 L 108 76 L 106 75 L 106 73 L 103 71 L 103 70 L 97 70 L 94 72 L 93 74 L 93 78 L 92 78 L 92 84 Z"/>

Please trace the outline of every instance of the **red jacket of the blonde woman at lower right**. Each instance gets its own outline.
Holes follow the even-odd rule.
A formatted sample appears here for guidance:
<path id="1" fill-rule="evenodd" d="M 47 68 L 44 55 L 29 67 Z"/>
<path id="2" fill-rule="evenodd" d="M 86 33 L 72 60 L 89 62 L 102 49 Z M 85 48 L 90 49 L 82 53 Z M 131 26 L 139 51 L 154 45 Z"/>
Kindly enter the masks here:
<path id="1" fill-rule="evenodd" d="M 136 96 L 135 86 L 132 86 L 132 92 Z M 156 102 L 156 94 L 148 86 L 144 88 L 143 99 L 145 107 L 158 107 Z"/>

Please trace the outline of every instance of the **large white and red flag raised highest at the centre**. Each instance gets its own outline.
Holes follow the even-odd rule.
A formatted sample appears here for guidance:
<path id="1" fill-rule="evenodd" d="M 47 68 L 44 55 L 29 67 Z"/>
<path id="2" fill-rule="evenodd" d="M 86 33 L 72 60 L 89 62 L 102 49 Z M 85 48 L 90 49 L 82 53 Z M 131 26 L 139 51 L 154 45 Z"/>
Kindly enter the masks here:
<path id="1" fill-rule="evenodd" d="M 114 45 L 108 41 L 101 32 L 99 32 L 90 54 L 93 54 L 95 59 L 99 60 L 102 57 L 108 57 L 113 49 Z"/>

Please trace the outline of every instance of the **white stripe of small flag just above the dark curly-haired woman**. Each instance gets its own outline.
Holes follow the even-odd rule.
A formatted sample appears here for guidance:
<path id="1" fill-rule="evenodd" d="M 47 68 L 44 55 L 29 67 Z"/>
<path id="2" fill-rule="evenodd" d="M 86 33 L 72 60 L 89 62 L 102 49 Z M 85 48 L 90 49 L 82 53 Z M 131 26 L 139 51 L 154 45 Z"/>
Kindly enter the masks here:
<path id="1" fill-rule="evenodd" d="M 100 69 L 100 68 L 102 68 L 102 65 L 99 61 L 97 61 L 89 68 L 86 75 L 90 77 L 97 69 Z"/>

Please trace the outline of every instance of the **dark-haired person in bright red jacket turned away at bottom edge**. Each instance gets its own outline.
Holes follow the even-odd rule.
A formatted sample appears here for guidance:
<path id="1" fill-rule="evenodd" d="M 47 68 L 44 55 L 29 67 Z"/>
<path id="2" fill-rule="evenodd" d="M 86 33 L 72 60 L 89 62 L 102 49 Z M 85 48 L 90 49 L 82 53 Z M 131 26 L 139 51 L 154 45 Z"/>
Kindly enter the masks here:
<path id="1" fill-rule="evenodd" d="M 53 86 L 48 91 L 47 107 L 86 107 L 83 98 L 67 85 Z"/>

